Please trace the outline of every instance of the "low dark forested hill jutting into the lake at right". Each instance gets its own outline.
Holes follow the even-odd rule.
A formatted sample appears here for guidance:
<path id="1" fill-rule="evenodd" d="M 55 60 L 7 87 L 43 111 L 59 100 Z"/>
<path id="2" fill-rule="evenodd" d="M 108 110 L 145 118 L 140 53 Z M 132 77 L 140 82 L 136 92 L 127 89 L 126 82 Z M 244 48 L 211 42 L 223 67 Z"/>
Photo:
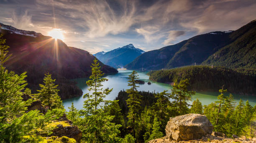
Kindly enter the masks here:
<path id="1" fill-rule="evenodd" d="M 189 90 L 218 91 L 223 85 L 234 94 L 256 96 L 256 76 L 246 75 L 224 67 L 189 66 L 149 72 L 152 81 L 173 84 L 189 79 Z"/>

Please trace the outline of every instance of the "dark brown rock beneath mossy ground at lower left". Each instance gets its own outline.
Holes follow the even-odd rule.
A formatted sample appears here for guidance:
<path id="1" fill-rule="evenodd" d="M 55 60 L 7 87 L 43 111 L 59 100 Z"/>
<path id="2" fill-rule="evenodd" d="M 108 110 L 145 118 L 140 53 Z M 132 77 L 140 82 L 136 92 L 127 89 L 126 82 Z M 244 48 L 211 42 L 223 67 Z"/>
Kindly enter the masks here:
<path id="1" fill-rule="evenodd" d="M 54 128 L 51 136 L 67 136 L 69 138 L 74 138 L 78 143 L 82 138 L 82 131 L 80 131 L 77 126 L 63 126 L 62 124 L 57 125 L 57 128 Z"/>

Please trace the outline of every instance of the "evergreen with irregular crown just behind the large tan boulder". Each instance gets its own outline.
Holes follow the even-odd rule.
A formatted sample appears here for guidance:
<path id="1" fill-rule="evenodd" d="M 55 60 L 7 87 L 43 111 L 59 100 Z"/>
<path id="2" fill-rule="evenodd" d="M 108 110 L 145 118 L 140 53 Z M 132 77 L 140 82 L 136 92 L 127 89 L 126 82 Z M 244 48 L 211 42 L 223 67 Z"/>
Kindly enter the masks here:
<path id="1" fill-rule="evenodd" d="M 172 89 L 171 97 L 174 99 L 172 102 L 174 106 L 178 107 L 179 115 L 184 115 L 189 112 L 189 104 L 187 101 L 191 100 L 191 96 L 195 94 L 194 91 L 188 91 L 187 86 L 189 86 L 188 79 L 181 80 L 179 84 L 174 84 Z"/>

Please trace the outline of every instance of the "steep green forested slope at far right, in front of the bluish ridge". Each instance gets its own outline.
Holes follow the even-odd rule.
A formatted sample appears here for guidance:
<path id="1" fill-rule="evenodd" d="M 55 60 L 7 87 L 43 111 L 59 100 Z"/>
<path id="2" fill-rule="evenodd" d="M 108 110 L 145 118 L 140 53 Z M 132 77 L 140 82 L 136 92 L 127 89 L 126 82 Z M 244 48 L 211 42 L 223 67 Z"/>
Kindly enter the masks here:
<path id="1" fill-rule="evenodd" d="M 212 54 L 202 64 L 256 69 L 256 20 L 230 35 L 234 42 Z"/>

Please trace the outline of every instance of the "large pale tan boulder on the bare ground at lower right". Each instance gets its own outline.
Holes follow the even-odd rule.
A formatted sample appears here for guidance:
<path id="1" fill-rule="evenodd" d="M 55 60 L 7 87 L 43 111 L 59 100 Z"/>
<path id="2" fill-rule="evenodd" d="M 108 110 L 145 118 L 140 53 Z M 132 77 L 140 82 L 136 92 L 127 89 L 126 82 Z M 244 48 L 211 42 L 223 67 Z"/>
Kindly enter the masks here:
<path id="1" fill-rule="evenodd" d="M 165 131 L 166 137 L 175 141 L 200 139 L 207 133 L 212 133 L 212 123 L 205 115 L 186 114 L 170 118 Z"/>

